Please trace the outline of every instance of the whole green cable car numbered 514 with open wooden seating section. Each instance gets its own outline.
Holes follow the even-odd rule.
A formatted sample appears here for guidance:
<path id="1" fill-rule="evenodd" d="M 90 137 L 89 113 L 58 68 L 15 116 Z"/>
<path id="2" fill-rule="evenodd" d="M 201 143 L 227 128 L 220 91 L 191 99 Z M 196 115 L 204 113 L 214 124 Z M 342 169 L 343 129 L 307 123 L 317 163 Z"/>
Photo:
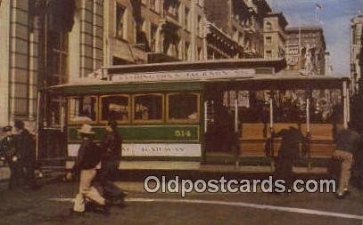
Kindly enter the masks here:
<path id="1" fill-rule="evenodd" d="M 285 60 L 263 59 L 113 66 L 50 87 L 64 102 L 66 167 L 78 154 L 79 127 L 93 125 L 101 141 L 110 117 L 123 139 L 121 169 L 273 167 L 281 143 L 273 133 L 290 126 L 309 142 L 302 161 L 331 158 L 334 132 L 349 121 L 349 79 L 284 68 Z"/>

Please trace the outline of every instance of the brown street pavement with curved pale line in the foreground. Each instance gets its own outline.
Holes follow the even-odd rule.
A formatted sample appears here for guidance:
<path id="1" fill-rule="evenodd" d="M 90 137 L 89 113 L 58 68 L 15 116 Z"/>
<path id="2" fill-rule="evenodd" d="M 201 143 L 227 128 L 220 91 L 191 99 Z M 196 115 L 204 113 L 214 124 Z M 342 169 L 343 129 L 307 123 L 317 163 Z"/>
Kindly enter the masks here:
<path id="1" fill-rule="evenodd" d="M 110 215 L 70 213 L 77 182 L 51 181 L 36 191 L 9 191 L 0 185 L 0 224 L 276 224 L 361 225 L 363 193 L 346 199 L 333 194 L 146 193 L 142 181 L 119 181 L 128 192 L 126 207 L 111 207 Z"/>

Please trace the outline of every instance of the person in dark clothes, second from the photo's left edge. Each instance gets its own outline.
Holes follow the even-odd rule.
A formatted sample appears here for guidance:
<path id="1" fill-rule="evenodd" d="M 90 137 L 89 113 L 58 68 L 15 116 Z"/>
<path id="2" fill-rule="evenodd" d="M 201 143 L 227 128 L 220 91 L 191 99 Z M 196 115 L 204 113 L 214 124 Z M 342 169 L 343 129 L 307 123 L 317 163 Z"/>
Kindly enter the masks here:
<path id="1" fill-rule="evenodd" d="M 24 179 L 30 189 L 38 189 L 35 170 L 37 167 L 36 144 L 32 135 L 25 128 L 24 122 L 15 120 L 15 149 L 21 157 L 21 168 Z"/>

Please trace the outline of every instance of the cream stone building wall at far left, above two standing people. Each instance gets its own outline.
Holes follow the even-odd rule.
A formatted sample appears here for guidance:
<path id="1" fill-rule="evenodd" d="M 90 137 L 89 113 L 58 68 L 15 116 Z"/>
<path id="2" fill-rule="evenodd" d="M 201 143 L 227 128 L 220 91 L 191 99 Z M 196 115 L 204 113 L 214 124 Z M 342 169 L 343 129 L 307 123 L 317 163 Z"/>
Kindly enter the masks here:
<path id="1" fill-rule="evenodd" d="M 0 20 L 0 124 L 14 117 L 35 121 L 38 40 L 28 1 L 2 1 Z"/>

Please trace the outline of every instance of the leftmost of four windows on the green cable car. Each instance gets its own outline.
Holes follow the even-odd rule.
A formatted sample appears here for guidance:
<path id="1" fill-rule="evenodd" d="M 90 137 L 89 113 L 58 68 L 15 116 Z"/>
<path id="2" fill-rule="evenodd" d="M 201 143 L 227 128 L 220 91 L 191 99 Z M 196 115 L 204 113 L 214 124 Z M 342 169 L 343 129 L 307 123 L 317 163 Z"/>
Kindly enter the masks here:
<path id="1" fill-rule="evenodd" d="M 70 98 L 70 122 L 95 122 L 97 98 L 95 96 L 79 96 Z"/>

